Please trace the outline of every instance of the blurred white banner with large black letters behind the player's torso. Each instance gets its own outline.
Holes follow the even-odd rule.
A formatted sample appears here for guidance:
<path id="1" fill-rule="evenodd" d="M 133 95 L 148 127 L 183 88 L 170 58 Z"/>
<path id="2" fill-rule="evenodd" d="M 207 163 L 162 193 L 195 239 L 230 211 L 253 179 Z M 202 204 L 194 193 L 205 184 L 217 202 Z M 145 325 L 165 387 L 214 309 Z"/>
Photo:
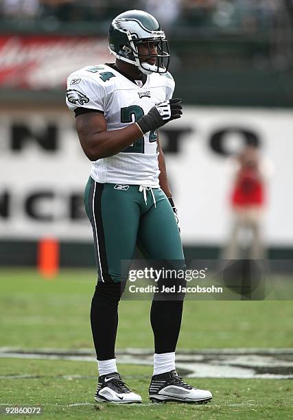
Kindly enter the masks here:
<path id="1" fill-rule="evenodd" d="M 266 161 L 263 232 L 293 244 L 293 115 L 288 110 L 185 106 L 160 130 L 185 244 L 223 244 L 231 227 L 231 154 L 255 141 Z M 91 170 L 73 114 L 31 110 L 0 117 L 0 237 L 91 240 L 83 193 Z"/>

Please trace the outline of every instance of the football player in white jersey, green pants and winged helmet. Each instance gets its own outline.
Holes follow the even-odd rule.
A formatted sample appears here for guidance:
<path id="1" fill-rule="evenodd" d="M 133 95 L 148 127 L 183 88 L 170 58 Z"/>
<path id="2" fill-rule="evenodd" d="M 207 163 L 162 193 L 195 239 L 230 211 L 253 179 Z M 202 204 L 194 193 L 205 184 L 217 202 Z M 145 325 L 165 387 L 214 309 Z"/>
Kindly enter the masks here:
<path id="1" fill-rule="evenodd" d="M 91 329 L 99 379 L 96 401 L 140 403 L 121 380 L 115 359 L 121 260 L 138 244 L 149 259 L 185 268 L 176 207 L 167 182 L 158 128 L 182 115 L 172 99 L 165 33 L 146 12 L 129 10 L 110 25 L 115 64 L 84 67 L 68 78 L 67 106 L 74 111 L 82 149 L 93 162 L 84 203 L 93 227 L 98 281 Z M 125 285 L 125 282 L 124 282 Z M 211 393 L 186 384 L 175 370 L 183 299 L 152 302 L 152 401 L 207 402 Z"/>

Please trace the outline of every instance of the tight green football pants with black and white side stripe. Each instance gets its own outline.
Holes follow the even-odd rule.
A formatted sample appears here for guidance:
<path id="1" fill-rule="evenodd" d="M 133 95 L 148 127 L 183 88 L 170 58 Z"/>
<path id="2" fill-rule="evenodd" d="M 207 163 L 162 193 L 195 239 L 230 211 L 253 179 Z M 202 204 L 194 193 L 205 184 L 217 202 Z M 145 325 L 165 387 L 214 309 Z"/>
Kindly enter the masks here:
<path id="1" fill-rule="evenodd" d="M 101 184 L 89 178 L 84 191 L 93 227 L 99 280 L 121 281 L 121 260 L 131 260 L 135 246 L 152 260 L 178 261 L 183 248 L 174 212 L 161 188 Z"/>

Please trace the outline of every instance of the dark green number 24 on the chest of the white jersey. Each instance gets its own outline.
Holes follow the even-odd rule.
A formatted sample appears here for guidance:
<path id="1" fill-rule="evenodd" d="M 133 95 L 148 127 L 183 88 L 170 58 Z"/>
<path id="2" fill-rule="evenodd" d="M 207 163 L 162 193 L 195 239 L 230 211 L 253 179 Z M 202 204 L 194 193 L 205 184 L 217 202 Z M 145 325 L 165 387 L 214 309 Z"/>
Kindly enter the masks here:
<path id="1" fill-rule="evenodd" d="M 144 112 L 143 108 L 138 105 L 126 106 L 126 108 L 121 108 L 121 122 L 128 123 L 134 122 L 143 117 Z M 133 119 L 132 119 L 133 116 Z M 157 130 L 150 131 L 149 141 L 152 143 L 158 138 Z M 143 137 L 140 137 L 138 140 L 134 141 L 133 145 L 128 146 L 128 148 L 122 150 L 125 153 L 144 153 L 144 141 Z"/>

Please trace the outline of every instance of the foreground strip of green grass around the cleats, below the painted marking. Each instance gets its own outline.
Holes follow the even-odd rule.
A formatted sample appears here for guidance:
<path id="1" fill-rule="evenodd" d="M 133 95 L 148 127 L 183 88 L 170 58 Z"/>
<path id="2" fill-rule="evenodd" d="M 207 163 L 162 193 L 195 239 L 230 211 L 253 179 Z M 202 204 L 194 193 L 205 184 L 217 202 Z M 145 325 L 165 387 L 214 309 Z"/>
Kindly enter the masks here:
<path id="1" fill-rule="evenodd" d="M 141 393 L 139 406 L 93 404 L 96 384 L 91 363 L 47 360 L 6 360 L 2 374 L 35 375 L 31 379 L 1 380 L 1 402 L 43 407 L 42 419 L 289 419 L 292 418 L 290 380 L 189 380 L 209 386 L 213 401 L 194 404 L 149 404 L 150 367 L 121 365 L 124 380 Z M 68 376 L 67 376 L 68 375 Z M 78 379 L 70 375 L 81 375 Z M 67 376 L 67 377 L 66 377 Z M 291 400 L 290 400 L 291 395 Z M 84 405 L 74 405 L 84 404 Z"/>

